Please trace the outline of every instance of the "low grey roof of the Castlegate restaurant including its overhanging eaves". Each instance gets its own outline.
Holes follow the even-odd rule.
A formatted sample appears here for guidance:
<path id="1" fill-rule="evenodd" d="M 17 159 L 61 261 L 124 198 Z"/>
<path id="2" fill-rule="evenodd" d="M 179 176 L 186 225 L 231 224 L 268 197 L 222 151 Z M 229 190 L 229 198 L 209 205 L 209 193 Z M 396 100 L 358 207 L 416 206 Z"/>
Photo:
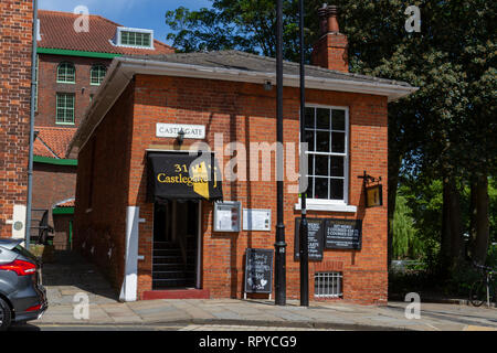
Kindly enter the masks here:
<path id="1" fill-rule="evenodd" d="M 299 64 L 284 62 L 283 85 L 299 87 Z M 115 57 L 96 98 L 84 114 L 66 156 L 76 158 L 105 114 L 134 75 L 162 75 L 219 81 L 276 84 L 276 61 L 239 51 Z M 121 73 L 121 74 L 117 74 Z M 306 88 L 384 96 L 389 101 L 419 88 L 405 82 L 306 66 Z"/>

